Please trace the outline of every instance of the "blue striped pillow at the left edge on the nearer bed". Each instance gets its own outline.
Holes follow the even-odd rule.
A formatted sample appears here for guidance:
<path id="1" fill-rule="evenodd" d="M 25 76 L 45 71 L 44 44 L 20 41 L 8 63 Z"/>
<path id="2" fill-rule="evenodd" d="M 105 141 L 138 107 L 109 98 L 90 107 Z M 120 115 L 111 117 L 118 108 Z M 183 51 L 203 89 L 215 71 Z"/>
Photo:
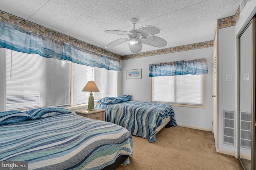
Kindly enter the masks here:
<path id="1" fill-rule="evenodd" d="M 32 120 L 32 117 L 27 113 L 19 110 L 10 110 L 0 112 L 0 125 L 7 125 L 10 123 L 21 122 L 25 120 Z"/>

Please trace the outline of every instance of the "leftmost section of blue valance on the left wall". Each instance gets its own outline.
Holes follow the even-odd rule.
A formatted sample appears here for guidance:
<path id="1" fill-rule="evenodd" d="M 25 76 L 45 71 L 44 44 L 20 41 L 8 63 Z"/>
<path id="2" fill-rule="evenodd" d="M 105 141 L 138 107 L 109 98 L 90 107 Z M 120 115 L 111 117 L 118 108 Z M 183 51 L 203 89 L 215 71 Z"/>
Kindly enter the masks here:
<path id="1" fill-rule="evenodd" d="M 61 59 L 62 41 L 34 33 L 0 20 L 0 47 L 43 57 Z"/>

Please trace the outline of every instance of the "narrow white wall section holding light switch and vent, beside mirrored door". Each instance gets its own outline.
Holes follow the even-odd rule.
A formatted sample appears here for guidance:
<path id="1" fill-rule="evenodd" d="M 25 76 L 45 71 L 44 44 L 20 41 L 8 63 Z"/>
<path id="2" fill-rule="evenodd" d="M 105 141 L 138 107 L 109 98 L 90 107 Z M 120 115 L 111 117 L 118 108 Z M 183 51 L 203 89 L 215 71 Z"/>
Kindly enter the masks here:
<path id="1" fill-rule="evenodd" d="M 227 150 L 236 150 L 237 142 L 234 141 L 234 146 L 224 145 L 223 143 L 223 126 L 222 112 L 223 110 L 234 111 L 235 121 L 238 120 L 238 111 L 236 107 L 236 55 L 235 55 L 235 27 L 221 28 L 218 37 L 218 148 Z M 227 81 L 227 75 L 232 75 L 232 81 Z M 235 131 L 238 127 L 236 125 Z M 235 138 L 236 134 L 235 134 Z"/>

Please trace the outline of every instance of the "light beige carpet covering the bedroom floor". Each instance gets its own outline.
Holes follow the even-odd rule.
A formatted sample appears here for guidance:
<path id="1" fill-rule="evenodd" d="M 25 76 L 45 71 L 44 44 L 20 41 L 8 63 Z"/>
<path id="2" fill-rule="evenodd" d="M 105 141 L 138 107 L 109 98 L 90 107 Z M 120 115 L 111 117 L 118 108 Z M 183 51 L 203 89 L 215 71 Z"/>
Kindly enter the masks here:
<path id="1" fill-rule="evenodd" d="M 117 170 L 243 170 L 234 156 L 216 152 L 213 133 L 185 127 L 163 128 L 156 142 L 132 136 L 130 164 Z"/>

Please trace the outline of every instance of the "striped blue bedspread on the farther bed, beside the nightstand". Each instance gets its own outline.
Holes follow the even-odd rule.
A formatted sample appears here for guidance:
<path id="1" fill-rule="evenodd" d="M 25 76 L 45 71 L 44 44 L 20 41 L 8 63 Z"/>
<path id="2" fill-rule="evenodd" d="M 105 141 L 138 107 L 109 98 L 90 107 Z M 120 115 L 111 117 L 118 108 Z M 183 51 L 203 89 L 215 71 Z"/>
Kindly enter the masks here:
<path id="1" fill-rule="evenodd" d="M 128 101 L 117 104 L 99 104 L 106 109 L 105 121 L 125 127 L 132 135 L 156 141 L 156 128 L 170 116 L 170 124 L 177 127 L 174 111 L 168 104 Z"/>

